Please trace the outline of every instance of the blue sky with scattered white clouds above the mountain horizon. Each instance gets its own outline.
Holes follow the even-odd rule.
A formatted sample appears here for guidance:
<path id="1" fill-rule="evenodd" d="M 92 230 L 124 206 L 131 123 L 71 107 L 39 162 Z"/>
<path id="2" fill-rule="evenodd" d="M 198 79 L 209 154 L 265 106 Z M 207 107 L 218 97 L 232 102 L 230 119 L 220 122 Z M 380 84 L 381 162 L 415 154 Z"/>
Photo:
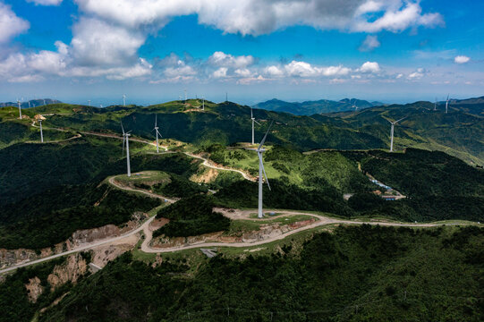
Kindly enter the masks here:
<path id="1" fill-rule="evenodd" d="M 484 95 L 482 1 L 0 0 L 0 101 Z"/>

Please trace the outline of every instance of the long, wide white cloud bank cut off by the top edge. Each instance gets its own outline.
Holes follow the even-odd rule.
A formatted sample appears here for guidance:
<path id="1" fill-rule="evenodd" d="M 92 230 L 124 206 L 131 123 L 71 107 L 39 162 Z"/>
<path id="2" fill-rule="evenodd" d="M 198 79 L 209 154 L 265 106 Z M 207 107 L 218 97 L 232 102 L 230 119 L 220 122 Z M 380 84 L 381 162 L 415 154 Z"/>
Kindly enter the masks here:
<path id="1" fill-rule="evenodd" d="M 197 14 L 199 22 L 228 33 L 267 34 L 293 25 L 321 30 L 378 32 L 443 23 L 421 13 L 414 0 L 75 0 L 81 10 L 130 28 L 159 29 L 171 18 Z M 377 20 L 374 16 L 381 16 Z"/>

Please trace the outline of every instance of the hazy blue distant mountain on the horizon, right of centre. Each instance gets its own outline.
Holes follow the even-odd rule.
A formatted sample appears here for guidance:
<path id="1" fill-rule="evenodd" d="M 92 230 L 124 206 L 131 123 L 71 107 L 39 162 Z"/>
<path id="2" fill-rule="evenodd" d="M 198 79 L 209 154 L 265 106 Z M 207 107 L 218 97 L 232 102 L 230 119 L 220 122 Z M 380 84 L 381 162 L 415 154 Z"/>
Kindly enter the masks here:
<path id="1" fill-rule="evenodd" d="M 340 101 L 320 99 L 316 101 L 285 102 L 279 99 L 271 99 L 253 106 L 268 111 L 286 112 L 296 115 L 313 115 L 333 112 L 344 112 L 355 108 L 366 108 L 373 106 L 383 106 L 381 102 L 369 102 L 357 98 L 344 98 Z"/>

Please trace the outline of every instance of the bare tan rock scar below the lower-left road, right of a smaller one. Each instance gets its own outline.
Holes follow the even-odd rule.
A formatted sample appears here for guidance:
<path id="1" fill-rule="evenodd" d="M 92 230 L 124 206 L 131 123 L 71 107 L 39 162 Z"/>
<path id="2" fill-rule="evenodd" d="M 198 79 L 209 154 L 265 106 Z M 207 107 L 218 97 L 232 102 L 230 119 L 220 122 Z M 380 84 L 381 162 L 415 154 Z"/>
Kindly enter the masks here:
<path id="1" fill-rule="evenodd" d="M 80 254 L 70 255 L 63 265 L 54 267 L 52 274 L 47 276 L 47 282 L 54 291 L 56 287 L 67 282 L 76 283 L 87 271 L 88 263 Z"/>

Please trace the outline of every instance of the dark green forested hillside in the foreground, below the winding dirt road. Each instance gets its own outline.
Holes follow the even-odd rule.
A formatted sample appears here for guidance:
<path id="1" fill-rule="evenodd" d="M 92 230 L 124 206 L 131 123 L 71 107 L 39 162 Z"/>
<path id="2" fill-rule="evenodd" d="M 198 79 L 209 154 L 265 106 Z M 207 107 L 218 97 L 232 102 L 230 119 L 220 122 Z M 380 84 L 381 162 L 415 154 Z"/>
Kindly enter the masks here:
<path id="1" fill-rule="evenodd" d="M 38 320 L 477 322 L 484 317 L 483 240 L 473 227 L 339 227 L 301 250 L 202 259 L 195 271 L 175 258 L 151 267 L 125 254 L 64 289 Z M 29 321 L 48 305 L 26 301 L 22 284 L 36 274 L 29 272 L 0 284 L 8 313 L 0 320 Z M 15 309 L 20 302 L 24 309 Z"/>

